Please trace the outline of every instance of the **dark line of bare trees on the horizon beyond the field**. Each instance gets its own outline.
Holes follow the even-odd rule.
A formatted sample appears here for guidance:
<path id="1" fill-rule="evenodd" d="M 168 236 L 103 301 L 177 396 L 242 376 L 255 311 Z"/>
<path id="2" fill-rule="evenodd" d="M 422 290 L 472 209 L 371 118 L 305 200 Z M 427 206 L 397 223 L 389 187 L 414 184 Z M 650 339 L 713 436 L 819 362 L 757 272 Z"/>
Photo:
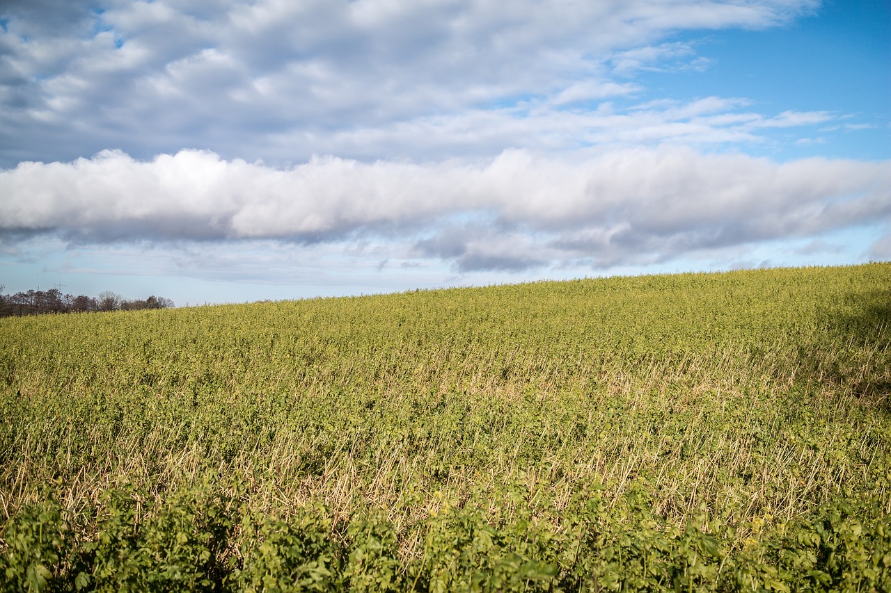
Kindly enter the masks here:
<path id="1" fill-rule="evenodd" d="M 128 300 L 105 290 L 99 296 L 63 295 L 58 288 L 28 290 L 14 295 L 4 295 L 0 284 L 0 317 L 43 315 L 45 313 L 93 313 L 100 311 L 138 311 L 141 309 L 168 309 L 173 301 L 163 296 L 149 296 L 144 300 Z"/>

